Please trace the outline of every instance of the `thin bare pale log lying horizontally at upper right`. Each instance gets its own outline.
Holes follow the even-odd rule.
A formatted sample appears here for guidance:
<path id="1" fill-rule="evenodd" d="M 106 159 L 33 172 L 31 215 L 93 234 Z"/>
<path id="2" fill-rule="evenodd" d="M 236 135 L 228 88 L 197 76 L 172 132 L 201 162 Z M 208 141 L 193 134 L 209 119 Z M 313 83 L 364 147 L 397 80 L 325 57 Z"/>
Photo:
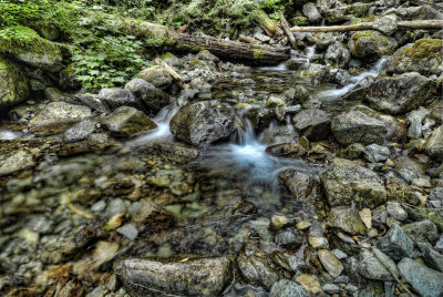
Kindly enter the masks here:
<path id="1" fill-rule="evenodd" d="M 342 32 L 342 31 L 360 31 L 373 30 L 373 22 L 361 22 L 357 24 L 346 25 L 321 25 L 321 27 L 292 27 L 292 32 Z M 418 21 L 398 21 L 400 30 L 442 30 L 443 20 L 418 20 Z"/>

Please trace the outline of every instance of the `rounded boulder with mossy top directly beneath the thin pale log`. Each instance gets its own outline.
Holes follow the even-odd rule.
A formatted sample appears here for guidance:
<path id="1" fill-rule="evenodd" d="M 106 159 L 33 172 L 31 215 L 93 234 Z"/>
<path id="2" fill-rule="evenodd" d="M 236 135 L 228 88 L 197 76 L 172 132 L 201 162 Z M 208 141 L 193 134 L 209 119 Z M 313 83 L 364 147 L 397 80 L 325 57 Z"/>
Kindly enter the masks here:
<path id="1" fill-rule="evenodd" d="M 349 40 L 348 48 L 352 57 L 375 61 L 383 55 L 392 54 L 398 42 L 378 31 L 361 31 L 354 33 Z"/>

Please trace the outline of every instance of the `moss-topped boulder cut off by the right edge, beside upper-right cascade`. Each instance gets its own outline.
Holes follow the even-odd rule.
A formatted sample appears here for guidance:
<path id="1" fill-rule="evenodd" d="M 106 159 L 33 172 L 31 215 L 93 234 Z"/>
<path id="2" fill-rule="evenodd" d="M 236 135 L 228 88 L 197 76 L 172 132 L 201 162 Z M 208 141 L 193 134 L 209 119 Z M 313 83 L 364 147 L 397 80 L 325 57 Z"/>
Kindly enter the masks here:
<path id="1" fill-rule="evenodd" d="M 390 73 L 416 71 L 423 75 L 443 72 L 443 41 L 441 39 L 420 39 L 399 49 L 387 63 Z"/>

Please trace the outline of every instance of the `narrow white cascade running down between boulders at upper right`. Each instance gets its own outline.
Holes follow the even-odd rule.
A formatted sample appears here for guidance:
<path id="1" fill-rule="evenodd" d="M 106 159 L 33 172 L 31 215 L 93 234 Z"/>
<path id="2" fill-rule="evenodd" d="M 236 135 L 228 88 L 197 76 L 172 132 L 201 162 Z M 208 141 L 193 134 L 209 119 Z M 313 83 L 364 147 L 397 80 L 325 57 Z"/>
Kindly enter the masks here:
<path id="1" fill-rule="evenodd" d="M 321 101 L 339 99 L 342 95 L 350 92 L 351 90 L 353 90 L 360 82 L 362 82 L 368 76 L 374 76 L 374 78 L 379 76 L 379 74 L 383 71 L 385 63 L 387 63 L 387 58 L 382 58 L 369 71 L 352 76 L 350 83 L 348 83 L 343 88 L 336 90 L 328 90 L 318 93 L 317 98 Z"/>

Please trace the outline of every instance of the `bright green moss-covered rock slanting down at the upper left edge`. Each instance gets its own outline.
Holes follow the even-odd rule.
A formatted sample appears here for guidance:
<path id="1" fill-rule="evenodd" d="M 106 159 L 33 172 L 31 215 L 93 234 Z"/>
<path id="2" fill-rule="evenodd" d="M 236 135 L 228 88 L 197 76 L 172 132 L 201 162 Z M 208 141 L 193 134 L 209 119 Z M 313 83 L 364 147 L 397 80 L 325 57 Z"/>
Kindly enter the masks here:
<path id="1" fill-rule="evenodd" d="M 60 48 L 28 27 L 14 25 L 1 30 L 0 53 L 9 53 L 17 60 L 50 72 L 63 68 Z"/>

